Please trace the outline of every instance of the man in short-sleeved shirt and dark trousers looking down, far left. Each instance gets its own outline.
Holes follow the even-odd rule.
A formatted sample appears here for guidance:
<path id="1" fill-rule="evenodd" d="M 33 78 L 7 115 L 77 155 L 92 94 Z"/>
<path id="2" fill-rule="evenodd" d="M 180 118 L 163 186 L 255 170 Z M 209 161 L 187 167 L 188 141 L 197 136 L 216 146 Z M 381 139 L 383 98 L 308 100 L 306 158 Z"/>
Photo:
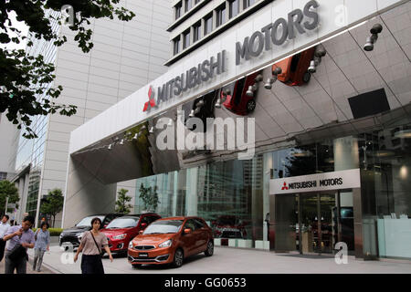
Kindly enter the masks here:
<path id="1" fill-rule="evenodd" d="M 5 274 L 14 274 L 15 269 L 17 274 L 26 274 L 27 248 L 35 245 L 35 235 L 31 230 L 34 221 L 33 216 L 26 216 L 21 225 L 11 226 L 5 233 L 3 240 L 8 241 L 5 245 Z"/>

